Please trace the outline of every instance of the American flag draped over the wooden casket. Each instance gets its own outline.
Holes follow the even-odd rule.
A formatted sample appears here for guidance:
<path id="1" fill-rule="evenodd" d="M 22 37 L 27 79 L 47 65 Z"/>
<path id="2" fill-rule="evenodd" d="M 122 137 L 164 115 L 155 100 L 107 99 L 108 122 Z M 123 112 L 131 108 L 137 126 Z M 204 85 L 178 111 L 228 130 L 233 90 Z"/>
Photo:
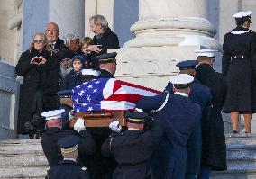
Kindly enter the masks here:
<path id="1" fill-rule="evenodd" d="M 115 78 L 99 78 L 72 89 L 74 112 L 131 111 L 142 96 L 154 96 L 160 91 L 134 85 Z"/>

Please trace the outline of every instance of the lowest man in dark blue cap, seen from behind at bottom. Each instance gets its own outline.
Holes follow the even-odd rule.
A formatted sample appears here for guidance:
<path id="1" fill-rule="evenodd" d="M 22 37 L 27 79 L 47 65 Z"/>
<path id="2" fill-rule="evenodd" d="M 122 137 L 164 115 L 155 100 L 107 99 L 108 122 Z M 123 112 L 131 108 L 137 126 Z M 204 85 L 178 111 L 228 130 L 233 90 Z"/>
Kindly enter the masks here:
<path id="1" fill-rule="evenodd" d="M 63 160 L 53 166 L 47 173 L 46 179 L 89 179 L 87 171 L 82 170 L 77 163 L 79 138 L 69 135 L 58 140 Z"/>

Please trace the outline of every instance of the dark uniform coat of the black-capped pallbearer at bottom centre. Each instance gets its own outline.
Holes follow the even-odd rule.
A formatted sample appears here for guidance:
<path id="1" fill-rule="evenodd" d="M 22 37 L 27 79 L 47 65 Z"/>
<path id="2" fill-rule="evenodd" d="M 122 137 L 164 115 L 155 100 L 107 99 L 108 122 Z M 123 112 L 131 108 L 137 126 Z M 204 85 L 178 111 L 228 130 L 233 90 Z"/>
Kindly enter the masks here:
<path id="1" fill-rule="evenodd" d="M 102 154 L 114 156 L 118 163 L 113 179 L 151 179 L 151 155 L 161 137 L 154 123 L 151 130 L 126 130 L 105 140 Z"/>

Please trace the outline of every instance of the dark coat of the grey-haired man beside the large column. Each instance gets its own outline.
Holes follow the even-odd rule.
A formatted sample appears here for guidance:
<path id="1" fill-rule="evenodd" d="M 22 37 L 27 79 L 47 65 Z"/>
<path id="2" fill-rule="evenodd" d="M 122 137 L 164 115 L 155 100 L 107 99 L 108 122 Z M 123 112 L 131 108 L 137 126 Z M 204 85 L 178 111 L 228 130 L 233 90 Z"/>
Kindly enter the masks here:
<path id="1" fill-rule="evenodd" d="M 94 44 L 102 45 L 101 52 L 97 53 L 96 56 L 105 54 L 107 49 L 119 49 L 119 40 L 117 35 L 111 31 L 110 28 L 107 28 L 105 32 L 102 34 L 102 37 L 97 39 L 96 36 L 93 38 Z"/>

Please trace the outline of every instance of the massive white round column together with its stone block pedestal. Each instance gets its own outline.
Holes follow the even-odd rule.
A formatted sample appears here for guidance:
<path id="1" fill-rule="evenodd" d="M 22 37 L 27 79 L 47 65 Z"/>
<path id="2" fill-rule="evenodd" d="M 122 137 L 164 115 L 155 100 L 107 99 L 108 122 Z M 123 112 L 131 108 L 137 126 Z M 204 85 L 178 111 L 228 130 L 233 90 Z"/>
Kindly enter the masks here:
<path id="1" fill-rule="evenodd" d="M 133 40 L 117 51 L 116 77 L 163 90 L 178 73 L 179 61 L 196 59 L 197 49 L 219 49 L 214 26 L 206 20 L 207 0 L 139 0 Z"/>

